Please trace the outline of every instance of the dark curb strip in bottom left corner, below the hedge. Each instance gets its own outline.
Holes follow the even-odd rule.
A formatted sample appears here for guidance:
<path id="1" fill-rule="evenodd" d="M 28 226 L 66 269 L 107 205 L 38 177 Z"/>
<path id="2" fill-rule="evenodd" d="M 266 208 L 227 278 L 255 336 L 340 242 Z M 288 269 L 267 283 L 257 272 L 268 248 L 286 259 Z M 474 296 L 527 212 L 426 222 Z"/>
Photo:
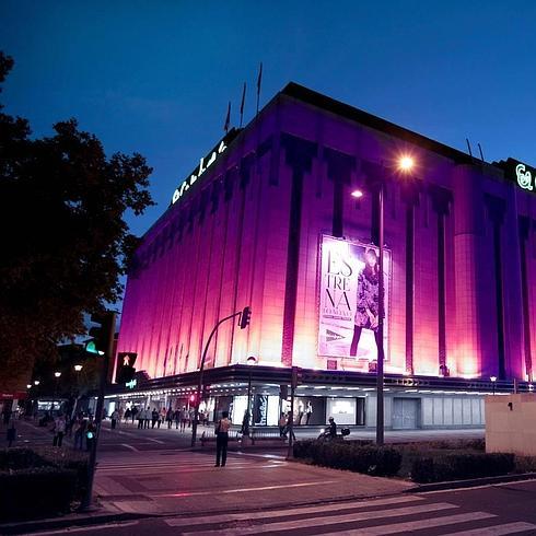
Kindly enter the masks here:
<path id="1" fill-rule="evenodd" d="M 91 526 L 114 521 L 132 521 L 147 517 L 156 517 L 154 514 L 135 513 L 105 513 L 95 515 L 69 516 L 69 517 L 47 517 L 44 520 L 33 520 L 23 522 L 5 523 L 0 525 L 0 534 L 27 534 L 43 529 L 67 528 Z"/>

